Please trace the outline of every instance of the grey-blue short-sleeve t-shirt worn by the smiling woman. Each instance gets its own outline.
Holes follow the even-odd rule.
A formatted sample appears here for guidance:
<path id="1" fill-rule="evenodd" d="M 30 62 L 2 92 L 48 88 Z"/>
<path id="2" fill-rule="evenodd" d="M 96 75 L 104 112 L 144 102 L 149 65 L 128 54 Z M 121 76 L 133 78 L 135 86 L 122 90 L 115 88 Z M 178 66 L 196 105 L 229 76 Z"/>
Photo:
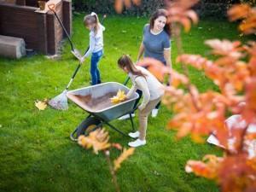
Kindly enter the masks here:
<path id="1" fill-rule="evenodd" d="M 152 34 L 149 25 L 146 24 L 143 28 L 143 44 L 144 57 L 152 57 L 158 61 L 166 62 L 164 57 L 164 49 L 171 48 L 170 37 L 163 30 L 159 34 Z"/>

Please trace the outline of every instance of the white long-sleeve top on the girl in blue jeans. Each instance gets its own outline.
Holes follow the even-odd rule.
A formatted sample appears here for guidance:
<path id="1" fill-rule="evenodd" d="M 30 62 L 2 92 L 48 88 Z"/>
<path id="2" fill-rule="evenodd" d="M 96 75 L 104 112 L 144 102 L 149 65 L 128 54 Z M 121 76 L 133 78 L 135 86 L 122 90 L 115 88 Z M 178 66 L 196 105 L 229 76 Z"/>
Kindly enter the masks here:
<path id="1" fill-rule="evenodd" d="M 90 48 L 85 53 L 84 58 L 90 56 L 91 53 L 96 53 L 103 49 L 103 32 L 105 31 L 105 27 L 101 24 L 99 25 L 97 33 L 94 30 L 90 31 Z"/>

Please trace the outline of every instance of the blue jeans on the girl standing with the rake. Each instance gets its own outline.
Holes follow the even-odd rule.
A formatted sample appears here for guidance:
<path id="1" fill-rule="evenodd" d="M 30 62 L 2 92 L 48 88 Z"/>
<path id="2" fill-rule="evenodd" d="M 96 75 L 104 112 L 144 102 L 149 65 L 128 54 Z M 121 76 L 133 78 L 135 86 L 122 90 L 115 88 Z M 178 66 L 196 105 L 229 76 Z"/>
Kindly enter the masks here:
<path id="1" fill-rule="evenodd" d="M 99 50 L 96 53 L 92 53 L 90 58 L 90 77 L 91 77 L 91 84 L 101 84 L 101 74 L 98 69 L 98 63 L 102 58 L 103 50 Z"/>

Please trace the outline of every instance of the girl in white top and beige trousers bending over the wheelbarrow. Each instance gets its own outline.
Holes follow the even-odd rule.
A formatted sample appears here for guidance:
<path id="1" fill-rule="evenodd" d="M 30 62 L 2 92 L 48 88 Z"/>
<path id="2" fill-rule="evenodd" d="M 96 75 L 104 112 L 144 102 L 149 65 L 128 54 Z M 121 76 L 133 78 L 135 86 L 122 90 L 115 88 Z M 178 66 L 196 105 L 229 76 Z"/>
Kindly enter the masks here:
<path id="1" fill-rule="evenodd" d="M 160 102 L 164 95 L 164 86 L 147 69 L 135 66 L 129 55 L 122 55 L 119 58 L 118 65 L 131 78 L 132 87 L 127 93 L 127 97 L 132 96 L 136 90 L 143 92 L 143 102 L 138 107 L 139 131 L 129 133 L 130 137 L 137 138 L 137 140 L 128 143 L 128 145 L 137 148 L 146 144 L 148 114 Z"/>

